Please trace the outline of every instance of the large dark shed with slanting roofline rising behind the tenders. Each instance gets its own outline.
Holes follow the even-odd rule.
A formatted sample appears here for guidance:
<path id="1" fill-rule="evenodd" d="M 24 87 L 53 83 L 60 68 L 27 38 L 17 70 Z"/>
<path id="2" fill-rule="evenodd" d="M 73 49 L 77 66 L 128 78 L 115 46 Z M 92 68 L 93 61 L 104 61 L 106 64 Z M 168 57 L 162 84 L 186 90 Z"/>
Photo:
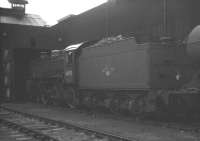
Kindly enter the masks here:
<path id="1" fill-rule="evenodd" d="M 200 23 L 197 0 L 113 0 L 52 26 L 66 45 L 104 37 L 134 36 L 138 42 L 162 36 L 184 40 Z M 64 30 L 63 30 L 64 29 Z"/>

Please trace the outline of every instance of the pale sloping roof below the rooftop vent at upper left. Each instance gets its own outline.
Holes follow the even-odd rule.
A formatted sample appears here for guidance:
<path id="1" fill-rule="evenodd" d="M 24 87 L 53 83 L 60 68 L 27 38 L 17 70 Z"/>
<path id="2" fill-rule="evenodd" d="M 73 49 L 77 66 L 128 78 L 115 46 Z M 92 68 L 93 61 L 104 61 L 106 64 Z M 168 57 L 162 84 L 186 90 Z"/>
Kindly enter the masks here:
<path id="1" fill-rule="evenodd" d="M 23 17 L 0 15 L 0 23 L 30 26 L 46 26 L 46 22 L 38 15 L 25 14 Z"/>

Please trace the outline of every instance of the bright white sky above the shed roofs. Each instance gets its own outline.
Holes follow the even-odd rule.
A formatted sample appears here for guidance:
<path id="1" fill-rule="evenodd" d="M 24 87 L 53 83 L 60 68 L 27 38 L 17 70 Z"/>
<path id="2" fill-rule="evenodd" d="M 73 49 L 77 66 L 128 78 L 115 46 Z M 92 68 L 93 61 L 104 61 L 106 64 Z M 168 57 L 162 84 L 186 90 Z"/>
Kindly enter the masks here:
<path id="1" fill-rule="evenodd" d="M 107 0 L 28 0 L 26 12 L 40 15 L 49 25 L 69 14 L 80 14 Z M 0 7 L 10 7 L 7 0 L 0 0 Z"/>

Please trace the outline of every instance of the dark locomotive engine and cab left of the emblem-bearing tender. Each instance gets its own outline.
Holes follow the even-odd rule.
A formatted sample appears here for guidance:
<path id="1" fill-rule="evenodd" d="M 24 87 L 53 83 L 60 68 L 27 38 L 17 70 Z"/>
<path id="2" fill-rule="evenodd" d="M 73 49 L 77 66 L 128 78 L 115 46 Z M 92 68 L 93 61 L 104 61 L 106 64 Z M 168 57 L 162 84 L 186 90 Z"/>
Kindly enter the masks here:
<path id="1" fill-rule="evenodd" d="M 67 96 L 75 84 L 73 58 L 64 50 L 41 53 L 30 65 L 29 97 L 44 104 L 69 104 L 71 98 Z"/>

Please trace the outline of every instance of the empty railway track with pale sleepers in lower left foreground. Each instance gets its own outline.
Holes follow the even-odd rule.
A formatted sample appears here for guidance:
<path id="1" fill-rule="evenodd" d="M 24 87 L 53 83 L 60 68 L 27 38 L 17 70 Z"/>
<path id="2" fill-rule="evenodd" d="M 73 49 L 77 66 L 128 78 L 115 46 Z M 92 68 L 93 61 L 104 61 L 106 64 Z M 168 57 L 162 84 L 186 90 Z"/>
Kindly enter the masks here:
<path id="1" fill-rule="evenodd" d="M 0 123 L 42 141 L 137 141 L 1 107 Z"/>

